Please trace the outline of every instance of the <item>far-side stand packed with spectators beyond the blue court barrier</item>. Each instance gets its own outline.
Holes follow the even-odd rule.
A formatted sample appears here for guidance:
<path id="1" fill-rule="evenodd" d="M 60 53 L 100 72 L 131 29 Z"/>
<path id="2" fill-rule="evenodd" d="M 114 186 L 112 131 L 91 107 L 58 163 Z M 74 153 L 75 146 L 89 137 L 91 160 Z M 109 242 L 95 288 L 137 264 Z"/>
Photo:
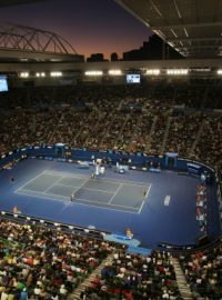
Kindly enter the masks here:
<path id="1" fill-rule="evenodd" d="M 220 108 L 222 89 L 213 88 L 153 83 L 12 89 L 0 94 L 0 152 L 63 142 L 148 154 L 179 152 L 220 168 L 222 114 L 209 106 Z M 178 114 L 172 112 L 175 106 Z"/>

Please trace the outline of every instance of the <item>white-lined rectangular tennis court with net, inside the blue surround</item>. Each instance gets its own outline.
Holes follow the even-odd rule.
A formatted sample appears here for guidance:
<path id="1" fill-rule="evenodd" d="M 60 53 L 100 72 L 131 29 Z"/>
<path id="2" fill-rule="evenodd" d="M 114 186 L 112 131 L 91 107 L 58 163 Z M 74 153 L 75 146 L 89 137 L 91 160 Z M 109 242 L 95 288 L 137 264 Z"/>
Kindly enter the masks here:
<path id="1" fill-rule="evenodd" d="M 151 184 L 91 178 L 78 173 L 43 171 L 14 192 L 72 204 L 140 213 L 148 201 Z"/>

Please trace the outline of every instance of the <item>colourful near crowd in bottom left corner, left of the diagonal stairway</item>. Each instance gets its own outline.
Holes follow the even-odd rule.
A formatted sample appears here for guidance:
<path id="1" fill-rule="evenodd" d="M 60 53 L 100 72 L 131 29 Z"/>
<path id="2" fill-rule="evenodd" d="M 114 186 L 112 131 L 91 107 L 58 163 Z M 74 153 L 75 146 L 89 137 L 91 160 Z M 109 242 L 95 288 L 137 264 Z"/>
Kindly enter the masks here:
<path id="1" fill-rule="evenodd" d="M 33 224 L 0 220 L 0 231 L 2 300 L 67 299 L 112 251 L 104 241 Z"/>

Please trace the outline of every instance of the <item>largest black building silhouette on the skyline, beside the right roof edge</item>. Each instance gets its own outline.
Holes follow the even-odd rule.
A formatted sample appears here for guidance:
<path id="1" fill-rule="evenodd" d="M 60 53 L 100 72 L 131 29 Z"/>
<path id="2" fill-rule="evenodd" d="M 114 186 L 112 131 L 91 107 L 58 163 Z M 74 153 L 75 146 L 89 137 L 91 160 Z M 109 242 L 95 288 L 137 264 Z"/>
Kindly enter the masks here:
<path id="1" fill-rule="evenodd" d="M 157 34 L 144 41 L 140 49 L 123 52 L 123 60 L 182 59 L 183 57 Z"/>

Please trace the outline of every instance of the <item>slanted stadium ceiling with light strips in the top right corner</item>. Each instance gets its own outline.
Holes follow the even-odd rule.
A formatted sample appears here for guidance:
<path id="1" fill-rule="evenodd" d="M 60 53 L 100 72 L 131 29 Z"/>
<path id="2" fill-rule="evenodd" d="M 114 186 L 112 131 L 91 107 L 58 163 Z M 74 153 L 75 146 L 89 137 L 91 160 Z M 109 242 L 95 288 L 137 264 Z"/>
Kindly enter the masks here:
<path id="1" fill-rule="evenodd" d="M 182 56 L 222 56 L 222 0 L 114 1 Z"/>

